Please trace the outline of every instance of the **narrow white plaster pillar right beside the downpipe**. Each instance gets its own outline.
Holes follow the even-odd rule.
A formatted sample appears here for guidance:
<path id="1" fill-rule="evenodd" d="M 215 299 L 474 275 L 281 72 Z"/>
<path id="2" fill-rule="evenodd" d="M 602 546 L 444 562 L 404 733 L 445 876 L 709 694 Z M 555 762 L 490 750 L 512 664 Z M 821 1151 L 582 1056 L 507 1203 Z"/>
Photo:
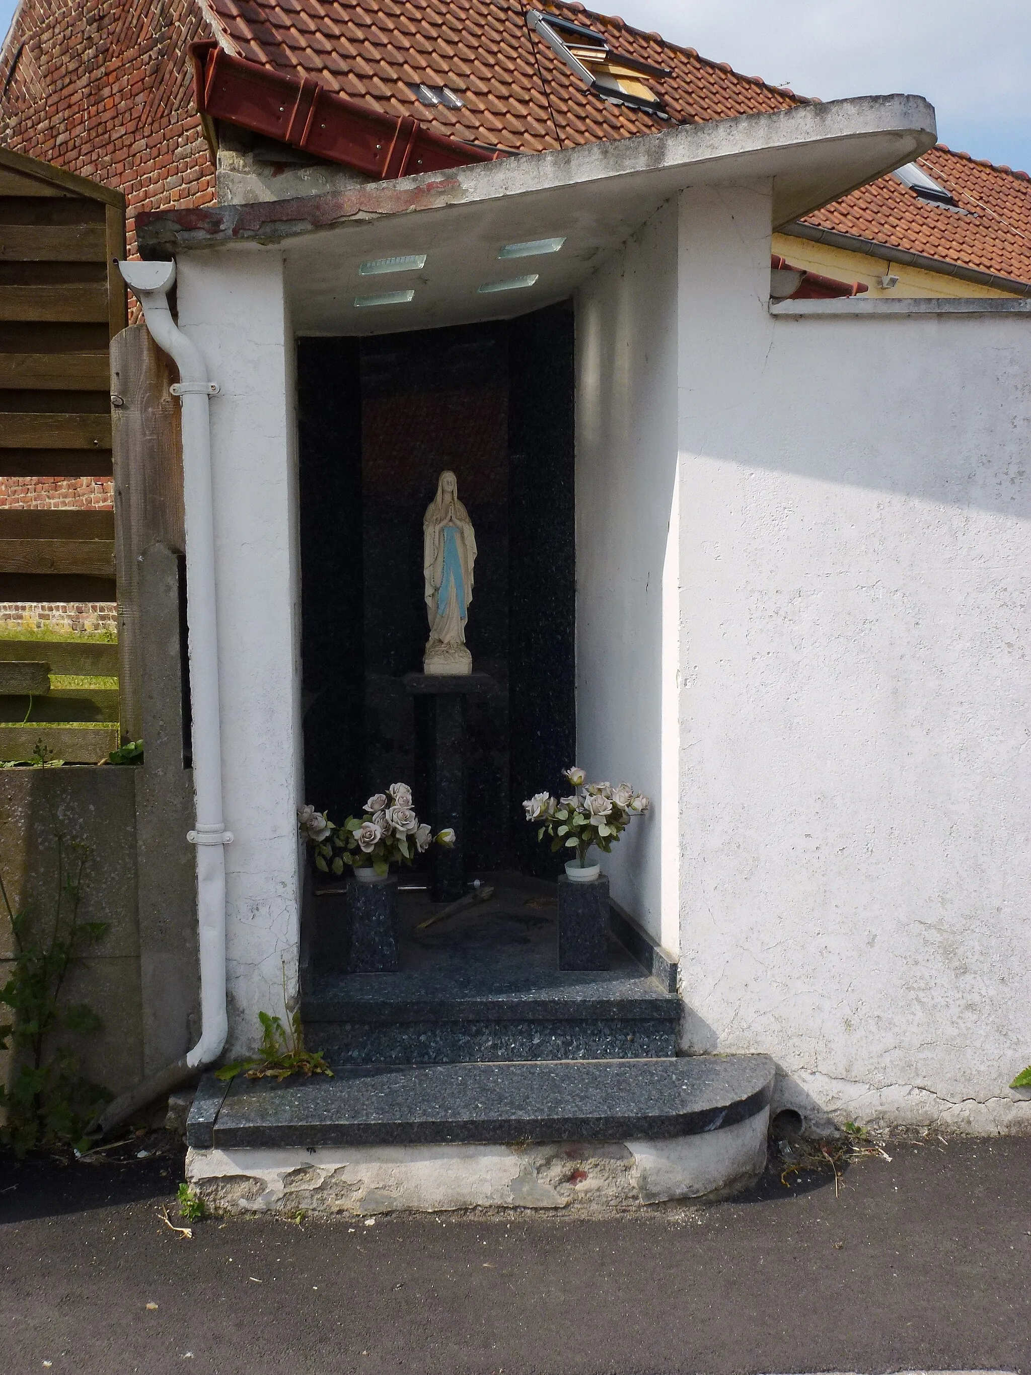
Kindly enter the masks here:
<path id="1" fill-rule="evenodd" d="M 293 331 L 282 254 L 179 260 L 179 323 L 210 404 L 225 824 L 230 1052 L 297 983 L 301 788 Z"/>

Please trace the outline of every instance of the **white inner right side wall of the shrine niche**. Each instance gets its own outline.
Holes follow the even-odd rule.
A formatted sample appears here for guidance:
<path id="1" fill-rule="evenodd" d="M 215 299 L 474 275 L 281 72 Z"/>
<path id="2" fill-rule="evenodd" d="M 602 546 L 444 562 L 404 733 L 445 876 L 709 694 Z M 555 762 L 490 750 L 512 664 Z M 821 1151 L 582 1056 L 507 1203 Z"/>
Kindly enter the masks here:
<path id="1" fill-rule="evenodd" d="M 676 205 L 667 204 L 576 302 L 577 763 L 653 799 L 605 858 L 612 895 L 667 946 L 678 913 L 663 826 L 663 569 L 676 473 Z M 768 274 L 767 274 L 768 275 Z M 674 666 L 675 667 L 675 666 Z M 675 738 L 668 758 L 675 770 Z M 671 815 L 672 813 L 672 815 Z M 672 854 L 674 846 L 668 847 Z M 667 866 L 675 873 L 675 861 Z"/>

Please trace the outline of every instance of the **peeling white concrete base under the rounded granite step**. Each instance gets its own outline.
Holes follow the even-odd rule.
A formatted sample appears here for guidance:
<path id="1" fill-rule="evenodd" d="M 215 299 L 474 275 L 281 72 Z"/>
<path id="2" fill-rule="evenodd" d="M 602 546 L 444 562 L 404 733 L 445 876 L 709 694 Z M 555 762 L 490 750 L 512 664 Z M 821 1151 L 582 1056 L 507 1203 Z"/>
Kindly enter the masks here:
<path id="1" fill-rule="evenodd" d="M 477 1207 L 610 1213 L 753 1184 L 768 1108 L 734 1126 L 650 1141 L 191 1150 L 187 1180 L 216 1213 L 437 1213 Z"/>

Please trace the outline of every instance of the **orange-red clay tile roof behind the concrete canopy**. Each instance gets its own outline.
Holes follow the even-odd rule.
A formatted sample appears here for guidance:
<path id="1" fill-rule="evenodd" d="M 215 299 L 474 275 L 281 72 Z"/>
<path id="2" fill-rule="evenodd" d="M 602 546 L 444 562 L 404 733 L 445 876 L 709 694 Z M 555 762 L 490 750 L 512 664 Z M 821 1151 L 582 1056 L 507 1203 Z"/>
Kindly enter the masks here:
<path id="1" fill-rule="evenodd" d="M 524 0 L 208 0 L 224 41 L 276 72 L 315 76 L 331 91 L 421 120 L 437 133 L 520 151 L 653 133 L 674 124 L 785 110 L 803 96 L 711 62 L 694 48 L 643 33 L 579 3 L 535 0 L 610 47 L 671 70 L 647 78 L 668 121 L 588 91 L 525 19 Z M 418 77 L 415 76 L 418 73 Z M 465 107 L 423 106 L 412 84 L 448 85 Z M 547 94 L 546 94 L 547 92 Z M 943 144 L 920 165 L 960 210 L 922 201 L 881 177 L 807 216 L 806 223 L 1031 282 L 1031 182 Z"/>

